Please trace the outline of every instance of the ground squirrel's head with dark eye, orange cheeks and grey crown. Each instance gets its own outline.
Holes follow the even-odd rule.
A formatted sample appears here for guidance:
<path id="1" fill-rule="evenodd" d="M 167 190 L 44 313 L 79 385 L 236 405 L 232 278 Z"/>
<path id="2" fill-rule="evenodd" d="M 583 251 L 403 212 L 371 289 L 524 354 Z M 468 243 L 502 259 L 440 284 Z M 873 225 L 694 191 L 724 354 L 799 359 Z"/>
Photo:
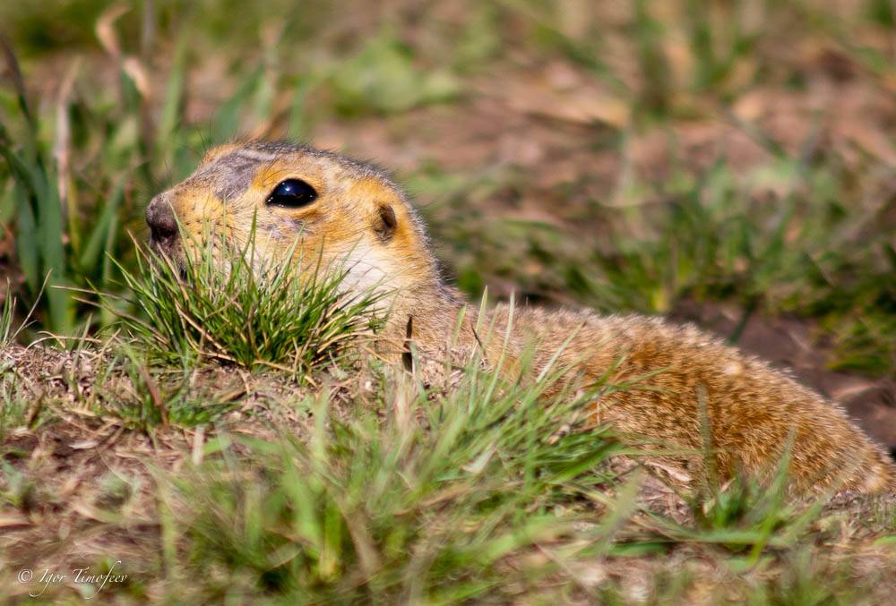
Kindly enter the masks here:
<path id="1" fill-rule="evenodd" d="M 358 290 L 439 283 L 422 221 L 398 186 L 375 166 L 311 147 L 211 149 L 193 175 L 152 199 L 146 222 L 151 245 L 180 264 L 205 247 L 224 262 L 220 243 L 247 250 L 254 233 L 256 268 L 320 260 Z"/>

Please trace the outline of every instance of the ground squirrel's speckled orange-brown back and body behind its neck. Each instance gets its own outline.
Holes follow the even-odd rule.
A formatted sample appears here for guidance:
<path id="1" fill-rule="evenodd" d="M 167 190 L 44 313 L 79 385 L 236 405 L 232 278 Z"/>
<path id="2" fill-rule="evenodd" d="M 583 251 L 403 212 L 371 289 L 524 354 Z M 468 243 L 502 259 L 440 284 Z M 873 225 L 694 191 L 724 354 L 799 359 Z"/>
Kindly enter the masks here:
<path id="1" fill-rule="evenodd" d="M 507 308 L 494 313 L 505 325 Z M 768 481 L 788 465 L 798 492 L 896 491 L 892 458 L 839 405 L 692 325 L 520 307 L 513 327 L 540 344 L 533 371 L 562 348 L 557 367 L 573 365 L 583 385 L 609 387 L 596 400 L 595 422 L 690 451 L 662 458 L 693 480 L 745 472 Z"/>

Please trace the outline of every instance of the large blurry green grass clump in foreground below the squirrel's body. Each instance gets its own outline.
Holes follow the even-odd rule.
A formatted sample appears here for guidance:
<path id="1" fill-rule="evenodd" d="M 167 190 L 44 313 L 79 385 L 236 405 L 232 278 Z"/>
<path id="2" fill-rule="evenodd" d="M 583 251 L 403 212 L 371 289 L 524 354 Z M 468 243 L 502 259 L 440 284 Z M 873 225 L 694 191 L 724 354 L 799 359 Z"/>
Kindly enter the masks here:
<path id="1" fill-rule="evenodd" d="M 288 601 L 495 593 L 510 580 L 502 560 L 585 519 L 555 509 L 581 509 L 579 499 L 610 482 L 600 464 L 620 448 L 581 424 L 556 436 L 556 422 L 585 400 L 539 400 L 553 378 L 505 384 L 478 361 L 466 373 L 447 395 L 392 383 L 380 404 L 392 409 L 386 422 L 374 411 L 342 418 L 325 400 L 306 400 L 314 429 L 302 440 L 250 440 L 248 459 L 225 454 L 172 478 L 194 512 L 177 525 L 189 561 Z M 616 507 L 632 508 L 633 495 L 623 499 Z M 595 528 L 590 547 L 611 530 Z M 210 583 L 202 590 L 221 593 L 195 599 L 234 589 Z"/>

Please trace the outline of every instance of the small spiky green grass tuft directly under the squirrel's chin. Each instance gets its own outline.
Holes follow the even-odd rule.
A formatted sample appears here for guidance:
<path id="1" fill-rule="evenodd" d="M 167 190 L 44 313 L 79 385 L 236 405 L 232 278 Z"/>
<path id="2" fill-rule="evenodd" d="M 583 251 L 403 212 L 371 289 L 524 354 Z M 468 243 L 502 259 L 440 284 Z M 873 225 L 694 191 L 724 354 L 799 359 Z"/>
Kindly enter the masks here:
<path id="1" fill-rule="evenodd" d="M 254 237 L 243 250 L 227 243 L 199 248 L 185 255 L 183 268 L 140 247 L 134 273 L 116 263 L 139 313 L 122 315 L 122 326 L 157 359 L 210 359 L 307 376 L 382 324 L 383 294 L 340 288 L 349 268 L 318 259 L 306 275 L 293 269 L 304 267 L 301 260 L 259 270 Z M 112 303 L 119 302 L 108 302 L 114 312 Z"/>

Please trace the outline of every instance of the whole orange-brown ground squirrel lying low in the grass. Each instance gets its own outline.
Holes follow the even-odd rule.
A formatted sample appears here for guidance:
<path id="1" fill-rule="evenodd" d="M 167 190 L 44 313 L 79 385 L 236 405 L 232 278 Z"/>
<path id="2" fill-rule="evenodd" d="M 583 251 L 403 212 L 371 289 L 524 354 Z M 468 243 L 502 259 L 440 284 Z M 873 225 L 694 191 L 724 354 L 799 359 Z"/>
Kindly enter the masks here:
<path id="1" fill-rule="evenodd" d="M 383 340 L 403 343 L 410 332 L 422 354 L 444 353 L 467 305 L 441 277 L 424 225 L 401 189 L 375 166 L 335 153 L 280 142 L 211 149 L 194 175 L 151 201 L 146 219 L 153 246 L 180 262 L 209 235 L 246 244 L 253 225 L 258 259 L 276 259 L 299 242 L 325 262 L 344 260 L 347 288 L 389 293 Z M 476 310 L 466 312 L 456 346 L 475 348 Z M 486 313 L 502 331 L 510 308 Z M 527 343 L 536 343 L 530 368 L 538 372 L 571 337 L 558 362 L 574 365 L 577 380 L 640 378 L 595 405 L 597 421 L 624 434 L 716 453 L 714 467 L 724 476 L 744 470 L 768 478 L 789 444 L 797 491 L 896 489 L 896 465 L 840 407 L 692 326 L 518 306 L 512 327 L 505 370 Z M 488 351 L 493 347 L 485 346 L 486 360 L 497 357 Z M 692 476 L 693 466 L 702 465 L 697 459 L 673 458 Z"/>

